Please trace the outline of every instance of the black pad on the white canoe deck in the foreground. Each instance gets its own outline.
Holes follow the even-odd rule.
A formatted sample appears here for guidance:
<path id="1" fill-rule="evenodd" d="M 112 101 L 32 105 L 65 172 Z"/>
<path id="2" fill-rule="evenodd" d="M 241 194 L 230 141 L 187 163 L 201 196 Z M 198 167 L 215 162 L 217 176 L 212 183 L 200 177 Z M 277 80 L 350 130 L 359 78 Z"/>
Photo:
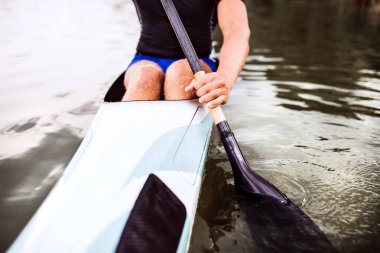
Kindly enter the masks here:
<path id="1" fill-rule="evenodd" d="M 155 175 L 146 180 L 124 227 L 116 252 L 176 252 L 186 208 Z"/>

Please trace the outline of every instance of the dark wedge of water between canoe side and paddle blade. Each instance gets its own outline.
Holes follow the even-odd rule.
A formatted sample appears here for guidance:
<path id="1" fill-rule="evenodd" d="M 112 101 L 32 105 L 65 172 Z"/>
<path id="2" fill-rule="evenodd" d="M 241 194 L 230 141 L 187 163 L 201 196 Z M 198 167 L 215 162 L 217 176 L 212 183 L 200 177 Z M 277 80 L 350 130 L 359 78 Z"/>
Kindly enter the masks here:
<path id="1" fill-rule="evenodd" d="M 213 135 L 216 134 L 214 129 Z M 203 178 L 190 252 L 234 252 L 254 247 L 244 213 L 240 213 L 233 186 L 233 175 L 223 146 L 216 138 L 210 146 L 211 159 Z"/>

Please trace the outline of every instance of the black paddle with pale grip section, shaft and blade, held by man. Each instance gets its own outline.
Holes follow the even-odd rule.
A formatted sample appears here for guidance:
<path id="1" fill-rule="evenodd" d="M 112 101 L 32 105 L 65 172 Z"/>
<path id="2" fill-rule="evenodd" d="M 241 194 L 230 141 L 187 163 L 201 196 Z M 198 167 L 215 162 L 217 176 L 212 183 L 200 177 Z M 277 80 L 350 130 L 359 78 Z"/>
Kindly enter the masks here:
<path id="1" fill-rule="evenodd" d="M 205 75 L 172 0 L 161 0 L 196 79 Z M 195 17 L 194 17 L 195 18 Z M 336 252 L 313 221 L 277 187 L 249 167 L 220 107 L 210 109 L 230 160 L 238 203 L 252 239 L 270 252 Z"/>

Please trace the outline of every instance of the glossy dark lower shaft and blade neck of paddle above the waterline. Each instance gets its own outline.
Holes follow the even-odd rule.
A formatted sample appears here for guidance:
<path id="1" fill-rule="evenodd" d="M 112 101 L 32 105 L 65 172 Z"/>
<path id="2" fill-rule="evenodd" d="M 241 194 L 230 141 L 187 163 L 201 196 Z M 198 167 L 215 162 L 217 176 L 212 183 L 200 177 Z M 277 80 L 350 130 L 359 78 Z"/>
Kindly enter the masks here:
<path id="1" fill-rule="evenodd" d="M 232 166 L 236 190 L 238 192 L 267 195 L 279 200 L 281 203 L 288 203 L 289 200 L 285 194 L 251 170 L 227 121 L 218 123 L 216 127 L 219 130 L 224 149 Z"/>

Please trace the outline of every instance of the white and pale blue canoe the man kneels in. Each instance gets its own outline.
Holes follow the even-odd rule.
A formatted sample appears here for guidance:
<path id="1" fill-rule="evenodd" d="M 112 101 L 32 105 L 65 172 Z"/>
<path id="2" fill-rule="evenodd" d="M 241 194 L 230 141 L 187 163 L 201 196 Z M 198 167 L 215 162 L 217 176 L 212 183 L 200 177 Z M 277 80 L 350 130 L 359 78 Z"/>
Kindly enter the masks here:
<path id="1" fill-rule="evenodd" d="M 116 102 L 122 80 L 9 253 L 115 252 L 152 174 L 185 207 L 176 252 L 187 251 L 212 120 L 197 100 Z"/>

